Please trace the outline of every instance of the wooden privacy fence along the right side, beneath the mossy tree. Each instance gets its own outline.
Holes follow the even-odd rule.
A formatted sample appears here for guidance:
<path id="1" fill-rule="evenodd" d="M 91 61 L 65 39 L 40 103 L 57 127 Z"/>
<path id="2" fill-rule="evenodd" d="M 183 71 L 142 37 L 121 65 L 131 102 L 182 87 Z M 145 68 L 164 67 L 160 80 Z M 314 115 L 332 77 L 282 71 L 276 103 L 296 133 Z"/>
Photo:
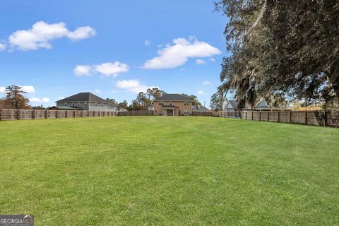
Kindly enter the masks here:
<path id="1" fill-rule="evenodd" d="M 211 116 L 339 127 L 339 111 L 211 112 Z"/>

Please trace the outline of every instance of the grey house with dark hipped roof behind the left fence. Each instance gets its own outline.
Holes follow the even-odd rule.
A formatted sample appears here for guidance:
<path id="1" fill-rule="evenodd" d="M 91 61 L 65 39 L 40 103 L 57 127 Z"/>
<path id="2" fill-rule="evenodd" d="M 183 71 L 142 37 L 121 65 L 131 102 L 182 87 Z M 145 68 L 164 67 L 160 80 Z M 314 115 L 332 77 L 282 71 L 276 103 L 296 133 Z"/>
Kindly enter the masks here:
<path id="1" fill-rule="evenodd" d="M 57 101 L 55 109 L 72 108 L 89 111 L 119 111 L 119 107 L 112 100 L 104 100 L 92 93 L 78 93 Z"/>

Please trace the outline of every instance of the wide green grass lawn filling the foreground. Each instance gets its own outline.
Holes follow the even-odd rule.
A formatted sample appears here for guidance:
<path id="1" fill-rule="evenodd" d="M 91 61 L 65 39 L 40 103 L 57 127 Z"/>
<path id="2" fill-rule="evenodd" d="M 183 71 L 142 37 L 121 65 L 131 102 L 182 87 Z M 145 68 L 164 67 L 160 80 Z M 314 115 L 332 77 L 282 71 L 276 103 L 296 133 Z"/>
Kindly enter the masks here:
<path id="1" fill-rule="evenodd" d="M 0 138 L 0 214 L 35 225 L 339 225 L 339 129 L 112 117 Z"/>

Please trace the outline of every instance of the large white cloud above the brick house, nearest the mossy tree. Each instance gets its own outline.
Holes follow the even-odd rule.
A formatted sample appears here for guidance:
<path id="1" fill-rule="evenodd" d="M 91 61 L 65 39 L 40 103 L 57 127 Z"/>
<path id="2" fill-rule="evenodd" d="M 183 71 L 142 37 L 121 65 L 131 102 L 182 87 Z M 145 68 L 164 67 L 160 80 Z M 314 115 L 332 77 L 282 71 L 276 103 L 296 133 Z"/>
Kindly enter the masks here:
<path id="1" fill-rule="evenodd" d="M 212 57 L 221 54 L 221 51 L 195 37 L 189 40 L 181 37 L 174 39 L 172 45 L 165 44 L 157 53 L 159 56 L 146 61 L 143 69 L 171 69 L 186 64 L 189 58 Z"/>

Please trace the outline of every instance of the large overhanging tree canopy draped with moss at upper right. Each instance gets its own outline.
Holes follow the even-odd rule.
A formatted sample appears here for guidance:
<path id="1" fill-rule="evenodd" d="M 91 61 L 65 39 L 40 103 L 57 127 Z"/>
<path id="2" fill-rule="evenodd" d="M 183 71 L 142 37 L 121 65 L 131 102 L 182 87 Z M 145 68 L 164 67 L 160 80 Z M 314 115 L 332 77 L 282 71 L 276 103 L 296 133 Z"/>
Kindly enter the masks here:
<path id="1" fill-rule="evenodd" d="M 215 9 L 229 18 L 220 95 L 234 93 L 240 107 L 258 97 L 338 102 L 339 1 L 222 0 Z"/>

